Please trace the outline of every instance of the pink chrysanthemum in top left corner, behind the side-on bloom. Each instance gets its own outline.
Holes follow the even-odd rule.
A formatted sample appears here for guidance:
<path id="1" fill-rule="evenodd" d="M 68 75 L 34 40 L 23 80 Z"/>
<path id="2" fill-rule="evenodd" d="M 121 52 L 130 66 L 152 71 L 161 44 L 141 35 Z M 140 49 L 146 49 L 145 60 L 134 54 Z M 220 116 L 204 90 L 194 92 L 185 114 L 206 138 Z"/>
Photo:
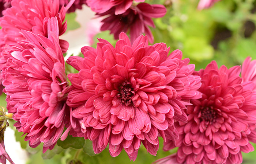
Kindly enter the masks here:
<path id="1" fill-rule="evenodd" d="M 12 0 L 11 8 L 3 11 L 3 17 L 0 18 L 2 27 L 1 40 L 4 40 L 3 51 L 10 50 L 8 45 L 16 44 L 24 40 L 21 30 L 31 31 L 34 34 L 40 34 L 47 37 L 47 23 L 50 17 L 57 17 L 59 22 L 59 35 L 64 34 L 67 29 L 65 19 L 65 8 L 59 8 L 59 0 Z M 63 53 L 67 51 L 68 42 L 60 40 L 60 46 Z M 8 52 L 2 52 L 8 54 Z M 3 56 L 3 54 L 1 55 Z"/>

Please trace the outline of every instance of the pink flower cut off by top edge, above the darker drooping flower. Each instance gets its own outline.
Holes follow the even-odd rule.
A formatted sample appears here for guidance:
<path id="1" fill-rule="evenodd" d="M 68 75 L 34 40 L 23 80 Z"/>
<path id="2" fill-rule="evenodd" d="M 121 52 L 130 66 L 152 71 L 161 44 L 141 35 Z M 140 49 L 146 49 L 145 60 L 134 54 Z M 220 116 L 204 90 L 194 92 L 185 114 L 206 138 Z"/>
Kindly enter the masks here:
<path id="1" fill-rule="evenodd" d="M 135 2 L 144 2 L 145 0 L 134 0 Z M 114 14 L 120 15 L 128 10 L 133 3 L 133 0 L 87 0 L 87 5 L 92 11 L 103 13 L 110 8 L 114 8 Z"/>

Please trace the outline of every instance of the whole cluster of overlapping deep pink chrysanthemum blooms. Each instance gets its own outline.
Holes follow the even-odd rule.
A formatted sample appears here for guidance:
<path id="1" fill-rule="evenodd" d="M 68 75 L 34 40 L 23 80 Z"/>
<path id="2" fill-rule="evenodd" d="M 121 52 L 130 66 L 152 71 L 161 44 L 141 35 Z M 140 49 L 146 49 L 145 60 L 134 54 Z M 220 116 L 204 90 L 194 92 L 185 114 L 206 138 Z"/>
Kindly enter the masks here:
<path id="1" fill-rule="evenodd" d="M 103 39 L 96 49 L 82 47 L 84 58 L 67 60 L 79 73 L 66 75 L 68 42 L 59 36 L 67 28 L 65 12 L 81 4 L 110 15 L 101 28 L 119 40 L 115 47 Z M 12 0 L 11 5 L 0 18 L 1 77 L 8 112 L 30 147 L 43 143 L 46 152 L 69 134 L 93 141 L 95 153 L 109 145 L 111 156 L 124 149 L 134 161 L 141 143 L 156 155 L 161 136 L 164 150 L 179 148 L 158 164 L 241 163 L 241 152 L 253 151 L 256 60 L 247 58 L 242 70 L 211 62 L 195 71 L 180 50 L 148 45 L 153 36 L 147 26 L 166 13 L 162 5 L 132 0 Z M 128 29 L 131 39 L 122 32 Z"/>

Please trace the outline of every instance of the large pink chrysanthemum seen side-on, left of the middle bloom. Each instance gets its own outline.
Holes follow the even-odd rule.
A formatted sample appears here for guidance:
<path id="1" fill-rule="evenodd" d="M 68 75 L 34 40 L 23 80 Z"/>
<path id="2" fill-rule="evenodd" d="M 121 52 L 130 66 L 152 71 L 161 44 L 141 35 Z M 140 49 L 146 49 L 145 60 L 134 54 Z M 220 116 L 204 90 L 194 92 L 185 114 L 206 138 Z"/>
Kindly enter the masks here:
<path id="1" fill-rule="evenodd" d="M 7 64 L 2 71 L 7 109 L 18 121 L 14 126 L 27 133 L 25 140 L 31 147 L 43 142 L 43 152 L 52 149 L 65 124 L 70 125 L 65 103 L 68 82 L 58 32 L 56 17 L 48 20 L 48 38 L 23 30 L 26 40 L 5 55 Z"/>

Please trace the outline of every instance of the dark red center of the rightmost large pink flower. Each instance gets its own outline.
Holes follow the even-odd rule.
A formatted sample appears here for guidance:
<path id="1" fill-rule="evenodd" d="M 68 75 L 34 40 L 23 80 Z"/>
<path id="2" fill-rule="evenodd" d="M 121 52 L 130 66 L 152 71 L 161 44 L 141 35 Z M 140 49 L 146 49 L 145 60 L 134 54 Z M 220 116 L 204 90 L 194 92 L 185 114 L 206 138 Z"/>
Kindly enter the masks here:
<path id="1" fill-rule="evenodd" d="M 217 117 L 217 111 L 213 107 L 203 107 L 200 111 L 201 121 L 205 122 L 215 122 Z"/>

